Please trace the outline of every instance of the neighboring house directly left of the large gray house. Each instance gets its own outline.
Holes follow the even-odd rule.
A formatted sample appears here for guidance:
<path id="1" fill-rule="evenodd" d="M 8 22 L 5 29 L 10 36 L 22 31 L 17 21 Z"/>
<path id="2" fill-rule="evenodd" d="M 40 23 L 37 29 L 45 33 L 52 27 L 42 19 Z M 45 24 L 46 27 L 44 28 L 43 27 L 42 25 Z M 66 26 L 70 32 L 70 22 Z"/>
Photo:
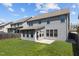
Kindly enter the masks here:
<path id="1" fill-rule="evenodd" d="M 11 27 L 8 28 L 9 33 L 20 33 L 20 28 L 23 28 L 23 24 L 30 19 L 31 17 L 19 19 L 11 24 Z"/>

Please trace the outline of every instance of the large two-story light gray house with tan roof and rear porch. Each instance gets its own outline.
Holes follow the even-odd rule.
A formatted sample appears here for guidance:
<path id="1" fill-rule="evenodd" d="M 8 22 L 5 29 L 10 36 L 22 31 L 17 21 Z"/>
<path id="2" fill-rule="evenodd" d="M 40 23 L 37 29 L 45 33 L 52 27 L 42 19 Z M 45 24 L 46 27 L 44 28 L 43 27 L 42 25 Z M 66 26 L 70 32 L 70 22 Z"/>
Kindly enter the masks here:
<path id="1" fill-rule="evenodd" d="M 24 40 L 66 40 L 70 27 L 70 12 L 68 9 L 34 16 L 23 23 L 21 39 Z"/>

